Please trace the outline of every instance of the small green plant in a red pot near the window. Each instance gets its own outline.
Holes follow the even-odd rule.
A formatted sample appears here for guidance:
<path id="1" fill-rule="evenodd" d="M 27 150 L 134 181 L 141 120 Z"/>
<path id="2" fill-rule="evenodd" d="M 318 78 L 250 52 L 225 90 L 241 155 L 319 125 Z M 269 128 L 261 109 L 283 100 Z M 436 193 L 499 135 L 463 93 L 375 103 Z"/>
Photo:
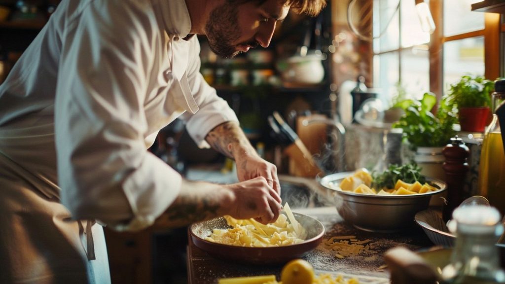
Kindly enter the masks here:
<path id="1" fill-rule="evenodd" d="M 454 113 L 462 131 L 483 132 L 489 118 L 494 82 L 483 76 L 464 75 L 450 85 L 440 108 Z"/>

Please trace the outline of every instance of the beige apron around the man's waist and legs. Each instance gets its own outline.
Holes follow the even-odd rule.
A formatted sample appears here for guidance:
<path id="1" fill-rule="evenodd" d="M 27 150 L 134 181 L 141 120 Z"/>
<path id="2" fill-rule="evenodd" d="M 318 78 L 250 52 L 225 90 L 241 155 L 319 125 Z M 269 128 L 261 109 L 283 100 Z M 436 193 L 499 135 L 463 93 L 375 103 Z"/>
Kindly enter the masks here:
<path id="1" fill-rule="evenodd" d="M 35 168 L 51 166 L 37 157 L 54 145 L 54 136 L 37 135 L 43 128 L 0 131 L 0 283 L 110 283 L 102 226 L 72 221 L 56 185 L 2 152 L 17 146 Z"/>

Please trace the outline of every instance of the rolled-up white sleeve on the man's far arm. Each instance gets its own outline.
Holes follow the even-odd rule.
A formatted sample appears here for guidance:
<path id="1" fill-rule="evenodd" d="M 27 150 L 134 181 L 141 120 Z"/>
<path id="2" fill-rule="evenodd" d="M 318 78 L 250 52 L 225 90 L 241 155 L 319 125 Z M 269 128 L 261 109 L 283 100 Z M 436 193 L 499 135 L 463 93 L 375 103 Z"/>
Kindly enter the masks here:
<path id="1" fill-rule="evenodd" d="M 191 38 L 190 61 L 188 68 L 188 82 L 193 97 L 199 107 L 195 114 L 186 112 L 186 128 L 193 140 L 200 148 L 209 148 L 205 136 L 217 125 L 226 121 L 236 121 L 237 116 L 228 103 L 220 98 L 216 89 L 211 87 L 199 72 L 200 70 L 200 45 L 196 36 Z"/>

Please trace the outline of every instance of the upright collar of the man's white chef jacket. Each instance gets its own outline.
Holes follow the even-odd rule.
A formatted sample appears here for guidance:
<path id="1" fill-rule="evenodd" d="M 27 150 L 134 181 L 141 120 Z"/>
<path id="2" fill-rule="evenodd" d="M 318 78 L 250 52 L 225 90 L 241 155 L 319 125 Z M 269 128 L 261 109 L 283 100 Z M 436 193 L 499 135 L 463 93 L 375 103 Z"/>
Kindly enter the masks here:
<path id="1" fill-rule="evenodd" d="M 185 0 L 153 0 L 156 18 L 170 39 L 178 41 L 191 31 L 191 18 Z"/>

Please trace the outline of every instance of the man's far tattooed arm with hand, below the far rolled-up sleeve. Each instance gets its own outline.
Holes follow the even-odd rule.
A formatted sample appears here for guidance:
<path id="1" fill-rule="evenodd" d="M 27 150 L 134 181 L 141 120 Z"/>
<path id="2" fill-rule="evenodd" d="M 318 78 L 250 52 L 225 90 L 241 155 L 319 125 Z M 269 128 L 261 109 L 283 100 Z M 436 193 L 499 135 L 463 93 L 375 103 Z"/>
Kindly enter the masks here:
<path id="1" fill-rule="evenodd" d="M 207 134 L 206 140 L 212 148 L 235 160 L 239 181 L 263 176 L 280 194 L 277 168 L 256 153 L 236 122 L 229 121 L 216 126 Z"/>

